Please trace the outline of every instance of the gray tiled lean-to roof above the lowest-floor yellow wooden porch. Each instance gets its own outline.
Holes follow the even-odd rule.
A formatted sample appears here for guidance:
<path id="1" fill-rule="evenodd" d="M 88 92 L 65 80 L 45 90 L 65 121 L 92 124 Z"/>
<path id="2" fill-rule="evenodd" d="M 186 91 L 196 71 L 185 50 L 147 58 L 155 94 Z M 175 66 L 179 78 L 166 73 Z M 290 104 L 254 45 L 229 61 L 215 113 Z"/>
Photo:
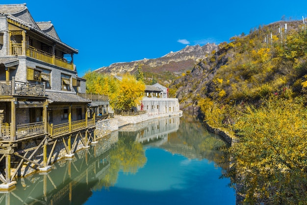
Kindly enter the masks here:
<path id="1" fill-rule="evenodd" d="M 46 91 L 49 103 L 90 103 L 91 101 L 75 93 Z"/>

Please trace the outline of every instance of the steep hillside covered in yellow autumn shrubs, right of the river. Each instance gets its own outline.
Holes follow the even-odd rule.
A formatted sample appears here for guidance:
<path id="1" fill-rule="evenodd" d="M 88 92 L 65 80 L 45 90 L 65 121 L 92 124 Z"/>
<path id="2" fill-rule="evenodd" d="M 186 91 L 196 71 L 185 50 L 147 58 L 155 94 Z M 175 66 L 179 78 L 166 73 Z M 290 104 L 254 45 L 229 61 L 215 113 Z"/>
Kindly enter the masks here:
<path id="1" fill-rule="evenodd" d="M 303 21 L 251 29 L 170 86 L 181 109 L 229 132 L 229 176 L 243 204 L 307 204 L 307 30 Z M 229 159 L 229 158 L 225 158 Z M 239 187 L 239 188 L 238 188 Z"/>

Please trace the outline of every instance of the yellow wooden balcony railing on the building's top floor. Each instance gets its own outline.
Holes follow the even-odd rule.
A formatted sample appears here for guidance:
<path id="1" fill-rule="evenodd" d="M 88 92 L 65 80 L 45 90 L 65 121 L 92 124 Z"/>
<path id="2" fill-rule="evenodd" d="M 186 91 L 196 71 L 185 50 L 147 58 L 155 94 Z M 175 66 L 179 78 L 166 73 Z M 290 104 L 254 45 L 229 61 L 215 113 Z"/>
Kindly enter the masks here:
<path id="1" fill-rule="evenodd" d="M 22 48 L 21 43 L 12 44 L 11 55 L 12 56 L 22 56 L 23 55 L 23 48 Z M 74 70 L 74 64 L 68 62 L 66 59 L 58 58 L 52 54 L 38 50 L 32 46 L 26 46 L 26 56 L 31 57 L 33 59 L 42 60 L 44 62 L 50 63 L 52 65 L 56 65 L 62 68 Z"/>

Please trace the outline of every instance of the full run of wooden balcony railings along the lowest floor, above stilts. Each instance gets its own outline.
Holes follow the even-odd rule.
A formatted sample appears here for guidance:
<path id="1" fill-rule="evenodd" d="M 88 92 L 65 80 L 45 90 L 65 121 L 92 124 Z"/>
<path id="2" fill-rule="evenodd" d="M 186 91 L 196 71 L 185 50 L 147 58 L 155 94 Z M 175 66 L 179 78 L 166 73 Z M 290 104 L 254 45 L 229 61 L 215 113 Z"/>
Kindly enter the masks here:
<path id="1" fill-rule="evenodd" d="M 87 121 L 87 123 L 86 123 Z M 64 134 L 69 134 L 71 132 L 82 130 L 87 127 L 95 126 L 95 118 L 91 119 L 81 119 L 73 121 L 71 123 L 62 123 L 62 124 L 49 124 L 47 123 L 46 134 L 50 134 L 51 137 L 57 137 Z M 12 141 L 11 140 L 11 126 L 8 123 L 2 123 L 0 126 L 0 140 Z M 15 140 L 21 140 L 24 138 L 31 138 L 45 134 L 45 124 L 44 122 L 34 122 L 27 124 L 19 124 L 16 126 Z"/>

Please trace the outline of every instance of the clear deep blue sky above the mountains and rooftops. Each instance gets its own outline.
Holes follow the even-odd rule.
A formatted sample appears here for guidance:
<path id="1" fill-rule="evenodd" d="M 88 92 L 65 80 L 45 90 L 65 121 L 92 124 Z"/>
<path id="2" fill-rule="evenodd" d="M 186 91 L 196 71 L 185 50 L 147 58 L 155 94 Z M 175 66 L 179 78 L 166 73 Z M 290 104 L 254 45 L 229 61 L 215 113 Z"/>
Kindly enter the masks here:
<path id="1" fill-rule="evenodd" d="M 307 1 L 1 0 L 26 3 L 35 21 L 51 21 L 79 50 L 79 76 L 115 62 L 154 59 L 187 45 L 219 44 L 286 19 L 307 17 Z"/>

